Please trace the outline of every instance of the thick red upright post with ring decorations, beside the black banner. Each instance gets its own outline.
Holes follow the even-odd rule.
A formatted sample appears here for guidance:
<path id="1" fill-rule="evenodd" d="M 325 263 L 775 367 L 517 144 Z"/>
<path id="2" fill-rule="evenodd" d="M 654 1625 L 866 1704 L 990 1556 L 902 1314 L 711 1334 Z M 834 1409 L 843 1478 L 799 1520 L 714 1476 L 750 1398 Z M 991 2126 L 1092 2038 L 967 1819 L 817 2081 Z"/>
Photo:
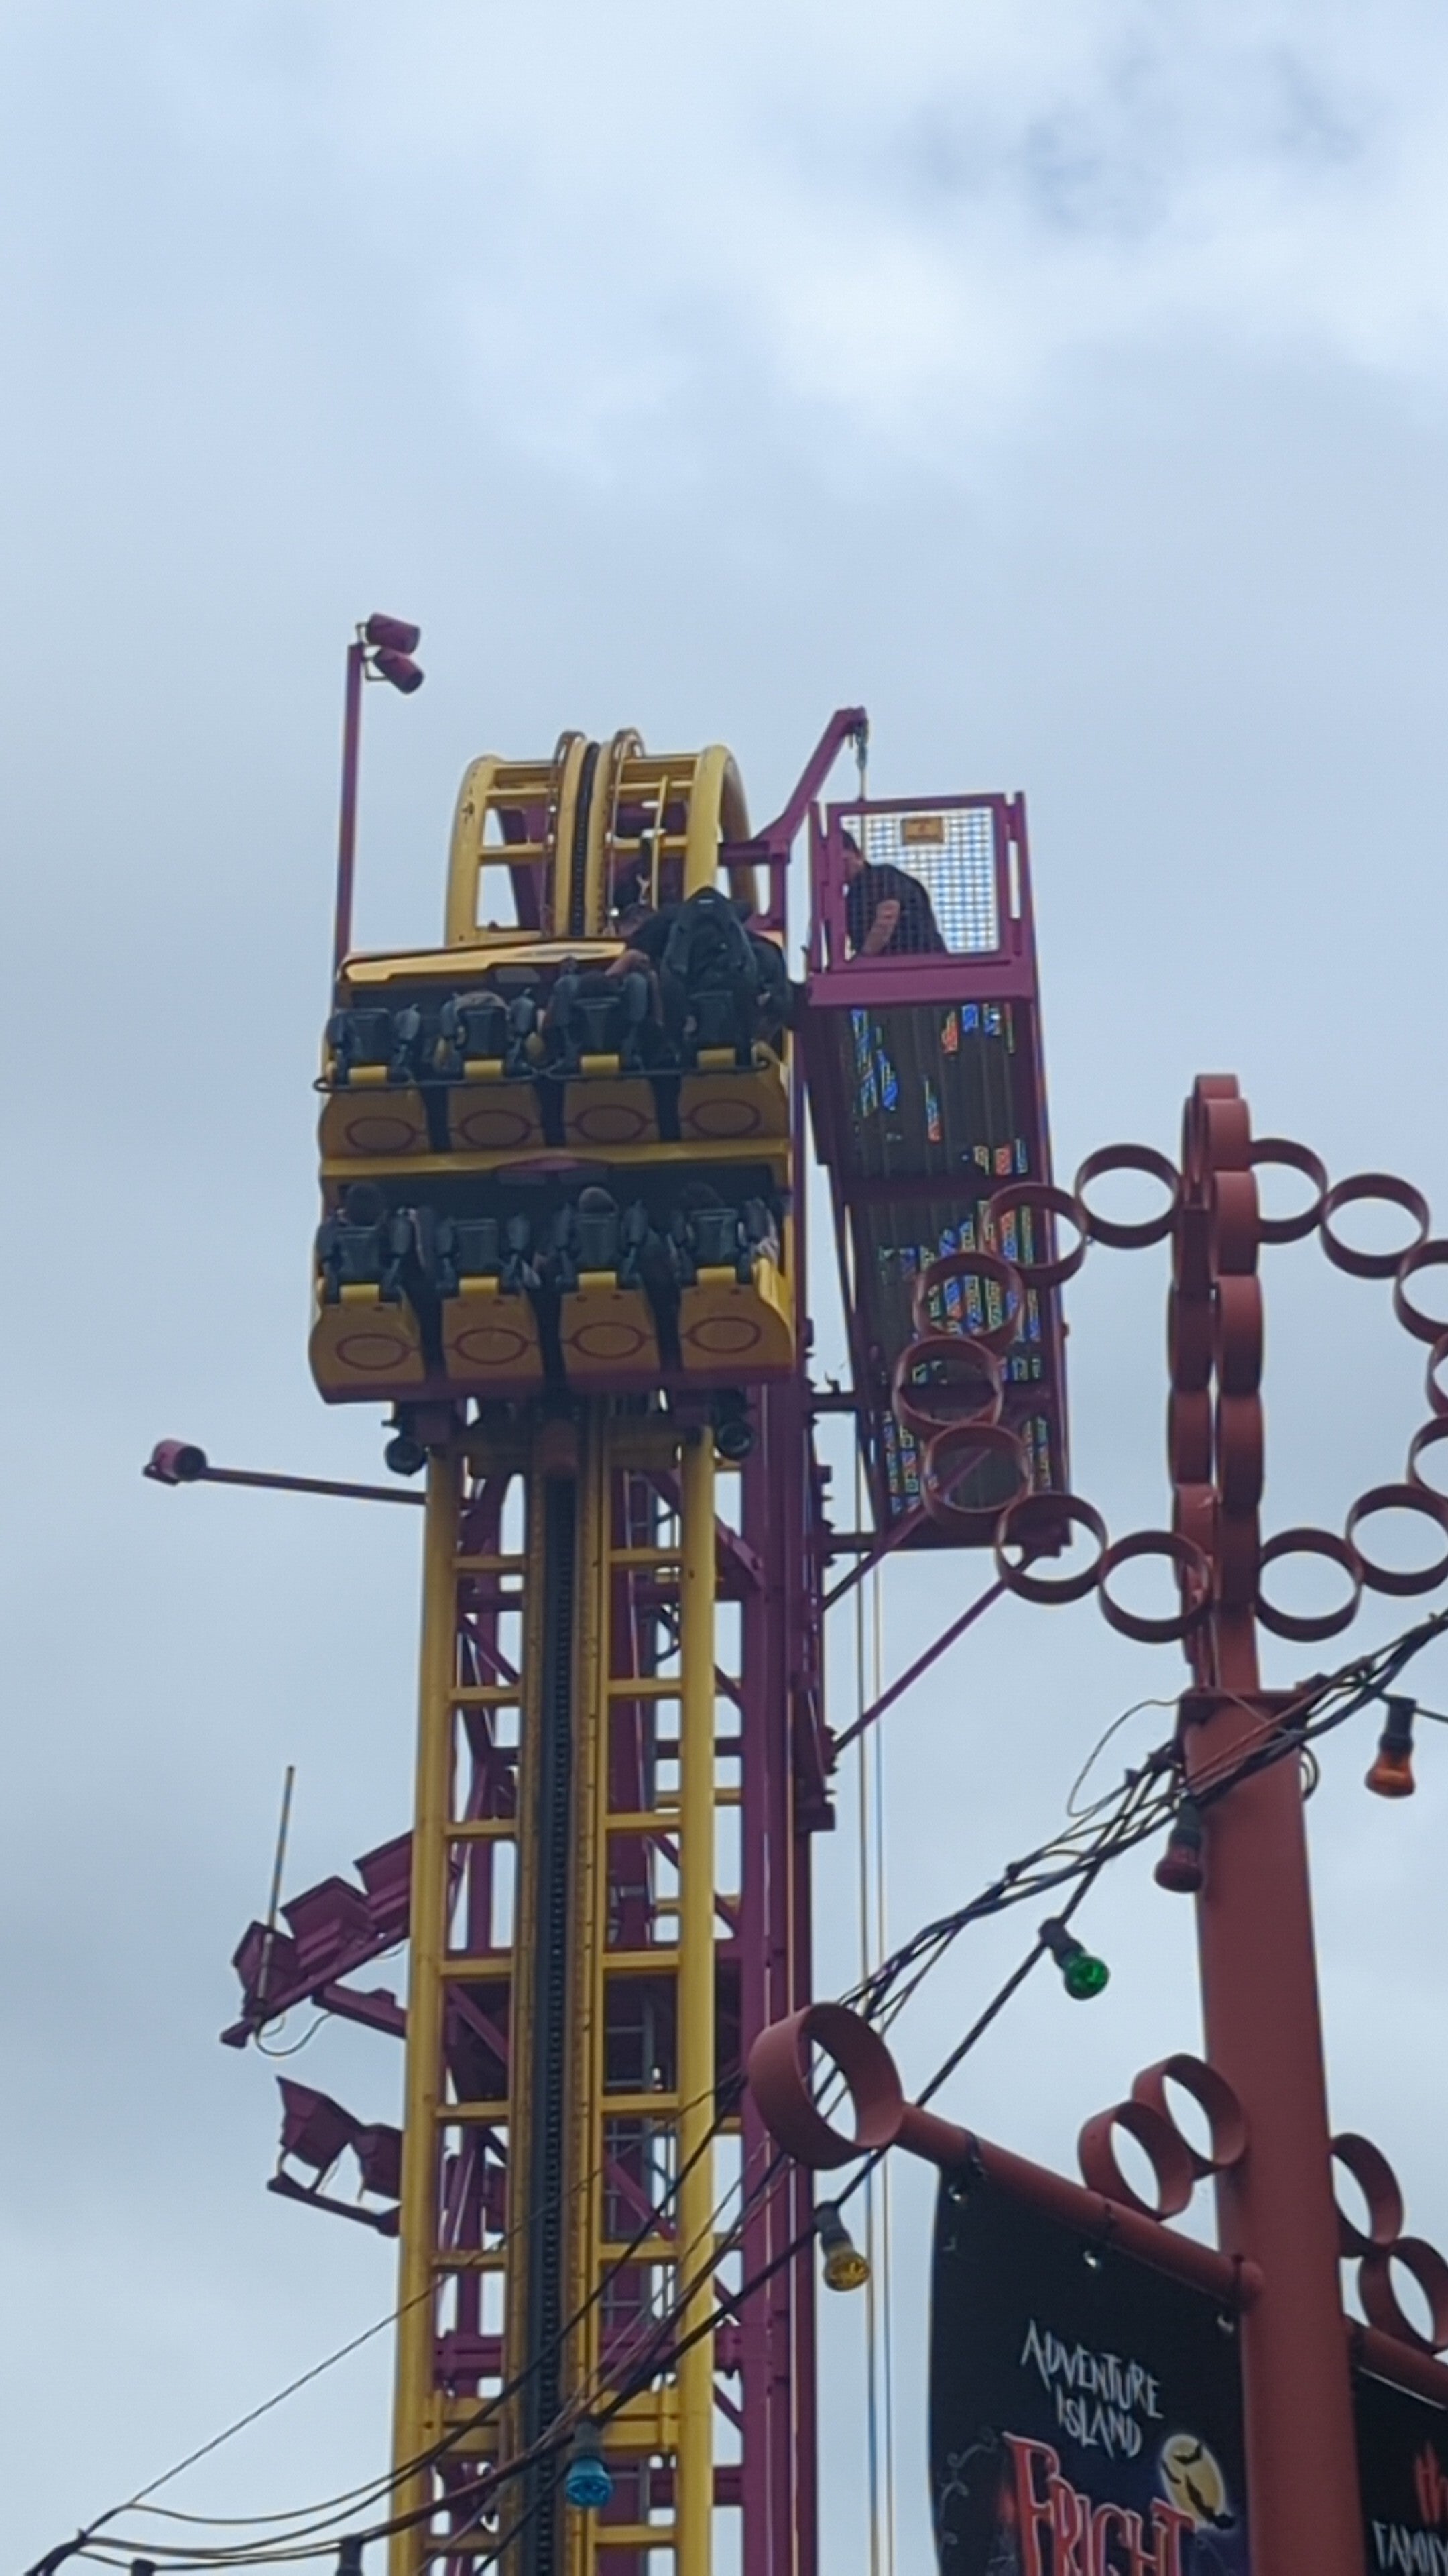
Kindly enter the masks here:
<path id="1" fill-rule="evenodd" d="M 1232 1077 L 1201 1077 L 1183 1131 L 1183 1203 L 1172 1262 L 1170 1450 L 1177 1530 L 1211 1564 L 1211 1610 L 1193 1641 L 1198 1687 L 1183 1700 L 1190 1788 L 1221 1783 L 1270 1741 L 1281 1698 L 1257 1672 L 1257 1502 L 1262 1492 L 1262 1221 L 1252 1123 Z M 1214 1486 L 1201 1486 L 1193 1404 L 1219 1391 Z M 1337 2280 L 1337 2210 L 1301 1765 L 1293 1752 L 1203 1811 L 1196 1901 L 1206 2053 L 1247 2115 L 1247 2154 L 1219 2177 L 1229 2254 L 1262 2269 L 1242 2318 L 1242 2411 L 1252 2576 L 1363 2576 L 1353 2383 Z"/>

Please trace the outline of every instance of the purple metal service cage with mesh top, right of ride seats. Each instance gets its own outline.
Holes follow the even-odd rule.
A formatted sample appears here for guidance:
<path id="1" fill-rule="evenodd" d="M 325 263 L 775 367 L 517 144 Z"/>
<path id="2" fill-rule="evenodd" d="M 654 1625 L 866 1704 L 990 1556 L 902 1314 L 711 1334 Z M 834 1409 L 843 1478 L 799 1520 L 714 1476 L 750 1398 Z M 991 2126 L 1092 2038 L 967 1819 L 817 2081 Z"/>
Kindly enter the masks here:
<path id="1" fill-rule="evenodd" d="M 853 894 L 855 850 L 866 878 Z M 997 1239 L 984 1213 L 1005 1182 L 1051 1180 L 1025 804 L 832 804 L 812 817 L 809 863 L 804 1059 L 876 1522 L 904 1546 L 987 1543 L 997 1463 L 982 1461 L 979 1492 L 964 1494 L 982 1507 L 974 1533 L 928 1520 L 917 1445 L 891 1412 L 891 1373 L 915 1337 L 915 1280 L 930 1262 L 976 1249 L 1041 1262 L 1054 1249 L 1049 1218 L 1023 1208 Z M 899 904 L 899 920 L 868 953 L 881 899 Z M 987 1278 L 951 1280 L 933 1329 L 997 1321 L 995 1296 Z M 1002 1419 L 1023 1440 L 1033 1489 L 1064 1492 L 1059 1293 L 1025 1291 L 1002 1378 Z"/>

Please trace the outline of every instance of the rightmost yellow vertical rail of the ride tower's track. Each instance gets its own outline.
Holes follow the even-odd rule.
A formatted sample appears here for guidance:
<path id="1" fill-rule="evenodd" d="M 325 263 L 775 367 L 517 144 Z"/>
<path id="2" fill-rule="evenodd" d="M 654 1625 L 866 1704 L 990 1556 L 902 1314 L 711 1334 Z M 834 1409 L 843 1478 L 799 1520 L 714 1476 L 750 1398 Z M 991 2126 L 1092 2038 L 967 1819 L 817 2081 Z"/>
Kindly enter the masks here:
<path id="1" fill-rule="evenodd" d="M 678 1891 L 678 2269 L 696 2275 L 714 2231 L 714 1443 L 680 1463 L 680 1891 Z M 711 2311 L 703 2282 L 680 2313 L 688 2334 Z M 714 2543 L 714 2339 L 678 2365 L 678 2576 L 709 2576 Z"/>

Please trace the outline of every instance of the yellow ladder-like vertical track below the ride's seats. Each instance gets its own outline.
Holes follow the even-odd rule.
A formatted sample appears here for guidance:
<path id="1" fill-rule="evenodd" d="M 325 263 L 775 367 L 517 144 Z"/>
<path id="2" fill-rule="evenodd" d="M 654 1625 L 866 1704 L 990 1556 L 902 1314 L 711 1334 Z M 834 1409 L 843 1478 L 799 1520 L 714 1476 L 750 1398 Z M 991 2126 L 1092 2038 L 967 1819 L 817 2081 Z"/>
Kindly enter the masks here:
<path id="1" fill-rule="evenodd" d="M 451 2517 L 399 2532 L 392 2576 L 487 2555 L 513 2527 L 510 2576 L 595 2576 L 626 2550 L 711 2568 L 711 2339 L 611 2406 L 714 2254 L 716 1978 L 737 1899 L 716 1878 L 737 1790 L 716 1754 L 714 1484 L 706 1432 L 611 1401 L 513 1448 L 469 1432 L 430 1453 L 394 2463 L 399 2514 L 441 2514 L 451 2494 Z M 497 1535 L 505 1489 L 520 1546 Z M 510 1602 L 515 1680 L 497 1656 L 479 1667 L 479 1636 L 497 1636 L 479 1600 Z M 665 1631 L 657 1651 L 660 1605 L 678 1649 Z M 479 1911 L 469 1873 L 508 1857 L 502 1945 L 495 1878 Z M 459 2097 L 469 2009 L 505 2025 L 505 2099 Z M 487 2179 L 502 2172 L 505 2205 Z M 711 2306 L 698 2282 L 678 2331 Z M 497 2506 L 469 2506 L 479 2465 L 549 2445 L 577 2411 L 608 2419 L 603 2514 L 562 2501 L 557 2445 Z"/>

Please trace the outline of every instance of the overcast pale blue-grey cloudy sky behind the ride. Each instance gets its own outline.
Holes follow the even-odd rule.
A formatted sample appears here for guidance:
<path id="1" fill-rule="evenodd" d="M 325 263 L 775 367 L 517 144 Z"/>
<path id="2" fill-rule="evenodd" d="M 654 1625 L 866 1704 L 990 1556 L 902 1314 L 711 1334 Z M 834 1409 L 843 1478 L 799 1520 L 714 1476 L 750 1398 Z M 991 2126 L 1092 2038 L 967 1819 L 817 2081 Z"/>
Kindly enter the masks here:
<path id="1" fill-rule="evenodd" d="M 1172 1146 L 1201 1069 L 1443 1208 L 1448 31 L 1378 0 L 5 0 L 0 605 L 0 2450 L 21 2563 L 384 2316 L 392 2251 L 265 2195 L 216 2048 L 265 1904 L 407 1821 L 415 1525 L 139 1481 L 155 1437 L 366 1473 L 304 1363 L 340 654 L 368 701 L 363 940 L 428 940 L 461 765 L 724 737 L 768 814 L 863 698 L 881 793 L 1031 799 L 1056 1159 Z M 817 1311 L 832 1334 L 827 1244 Z M 1165 1517 L 1159 1257 L 1072 1291 L 1074 1481 Z M 1268 1260 L 1268 1528 L 1402 1473 L 1384 1288 Z M 971 1561 L 886 1582 L 886 1669 Z M 1389 1636 L 1378 1605 L 1355 1636 Z M 1288 1680 L 1304 1654 L 1273 1656 Z M 1311 1662 L 1311 1651 L 1306 1651 Z M 1448 1708 L 1448 1654 L 1422 1692 Z M 1051 1826 L 1172 1649 L 1000 1610 L 889 1718 L 891 1935 Z M 848 1641 L 832 1710 L 853 1708 Z M 1147 1710 L 1121 1757 L 1162 1726 Z M 1332 2102 L 1448 2241 L 1448 1741 L 1311 1808 Z M 1116 1759 L 1116 1752 L 1113 1757 Z M 853 1973 L 853 1788 L 819 1850 Z M 920 2081 L 1018 1953 L 902 2025 Z M 1082 2014 L 1036 1981 L 946 2097 L 1069 2164 L 1193 2045 L 1190 1909 L 1123 1865 Z M 299 2074 L 386 2117 L 384 2043 Z M 928 2195 L 894 2280 L 902 2571 Z M 827 2566 L 866 2568 L 861 2306 L 832 2313 Z M 386 2339 L 193 2473 L 276 2512 L 386 2455 Z"/>

